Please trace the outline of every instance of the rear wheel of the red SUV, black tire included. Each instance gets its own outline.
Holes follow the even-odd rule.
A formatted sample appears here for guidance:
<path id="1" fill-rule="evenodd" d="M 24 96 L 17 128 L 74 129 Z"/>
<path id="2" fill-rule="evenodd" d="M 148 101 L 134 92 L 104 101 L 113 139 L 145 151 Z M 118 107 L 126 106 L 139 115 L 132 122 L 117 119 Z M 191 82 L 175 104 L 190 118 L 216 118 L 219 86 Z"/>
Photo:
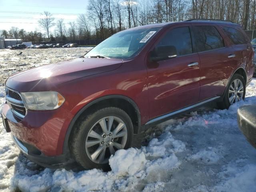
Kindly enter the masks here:
<path id="1" fill-rule="evenodd" d="M 236 80 L 238 86 L 235 87 L 234 81 Z M 232 92 L 232 88 L 235 88 L 234 92 Z M 238 88 L 238 90 L 236 90 Z M 241 92 L 241 90 L 243 92 Z M 246 85 L 242 75 L 234 74 L 228 83 L 227 89 L 224 93 L 222 102 L 217 103 L 220 109 L 228 109 L 230 105 L 235 102 L 239 102 L 240 100 L 244 100 L 246 92 Z M 230 98 L 234 98 L 234 100 L 230 101 Z"/>

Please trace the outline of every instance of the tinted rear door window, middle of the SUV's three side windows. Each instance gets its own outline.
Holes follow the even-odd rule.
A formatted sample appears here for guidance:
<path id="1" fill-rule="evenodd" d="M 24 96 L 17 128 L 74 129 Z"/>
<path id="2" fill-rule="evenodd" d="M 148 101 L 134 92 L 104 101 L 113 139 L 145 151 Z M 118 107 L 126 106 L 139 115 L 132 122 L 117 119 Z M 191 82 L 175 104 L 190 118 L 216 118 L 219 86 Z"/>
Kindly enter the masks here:
<path id="1" fill-rule="evenodd" d="M 198 52 L 224 47 L 222 36 L 214 26 L 195 26 Z"/>

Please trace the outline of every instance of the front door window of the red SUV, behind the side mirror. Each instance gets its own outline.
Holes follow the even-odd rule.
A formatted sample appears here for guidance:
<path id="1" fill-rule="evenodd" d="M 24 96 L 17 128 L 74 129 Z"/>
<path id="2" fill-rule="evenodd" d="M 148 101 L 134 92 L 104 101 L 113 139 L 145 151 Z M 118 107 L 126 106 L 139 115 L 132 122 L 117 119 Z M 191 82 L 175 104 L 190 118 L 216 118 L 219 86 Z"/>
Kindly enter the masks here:
<path id="1" fill-rule="evenodd" d="M 179 27 L 170 30 L 158 42 L 156 48 L 159 46 L 174 46 L 178 56 L 193 53 L 189 27 Z"/>

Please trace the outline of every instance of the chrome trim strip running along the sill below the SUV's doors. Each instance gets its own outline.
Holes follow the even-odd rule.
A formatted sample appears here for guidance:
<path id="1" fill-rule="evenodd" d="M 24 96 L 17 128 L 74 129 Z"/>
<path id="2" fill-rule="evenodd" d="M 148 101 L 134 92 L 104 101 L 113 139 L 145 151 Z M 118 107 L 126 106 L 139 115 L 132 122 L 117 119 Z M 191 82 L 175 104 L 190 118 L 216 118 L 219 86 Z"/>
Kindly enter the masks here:
<path id="1" fill-rule="evenodd" d="M 208 103 L 208 102 L 210 102 L 210 101 L 213 101 L 213 100 L 216 100 L 216 99 L 218 99 L 218 98 L 220 98 L 220 96 L 216 96 L 216 97 L 213 97 L 213 98 L 204 100 L 204 101 L 202 101 L 202 102 L 199 102 L 199 103 L 197 103 L 197 104 L 188 106 L 188 107 L 186 107 L 186 108 L 183 108 L 183 109 L 180 109 L 180 110 L 177 110 L 177 111 L 174 111 L 174 112 L 165 114 L 165 115 L 163 115 L 163 116 L 154 118 L 154 119 L 152 119 L 152 120 L 146 122 L 145 125 L 148 125 L 148 124 L 154 123 L 154 122 L 156 122 L 156 121 L 162 120 L 162 119 L 164 119 L 164 118 L 167 118 L 167 117 L 170 117 L 170 116 L 179 114 L 179 113 L 184 112 L 184 111 L 186 111 L 186 110 L 190 110 L 190 109 L 192 109 L 192 108 L 194 108 L 194 107 L 198 107 L 198 106 L 200 106 L 200 105 L 202 105 L 202 104 L 206 104 L 206 103 Z"/>

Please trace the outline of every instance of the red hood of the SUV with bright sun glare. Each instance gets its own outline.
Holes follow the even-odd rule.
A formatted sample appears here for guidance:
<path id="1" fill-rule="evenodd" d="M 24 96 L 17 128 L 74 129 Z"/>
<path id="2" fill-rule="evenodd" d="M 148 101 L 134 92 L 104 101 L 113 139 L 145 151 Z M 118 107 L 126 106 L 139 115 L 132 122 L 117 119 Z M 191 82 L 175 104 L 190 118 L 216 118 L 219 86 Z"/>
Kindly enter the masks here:
<path id="1" fill-rule="evenodd" d="M 64 82 L 117 69 L 122 60 L 76 58 L 11 75 L 6 86 L 19 92 L 46 91 Z"/>

